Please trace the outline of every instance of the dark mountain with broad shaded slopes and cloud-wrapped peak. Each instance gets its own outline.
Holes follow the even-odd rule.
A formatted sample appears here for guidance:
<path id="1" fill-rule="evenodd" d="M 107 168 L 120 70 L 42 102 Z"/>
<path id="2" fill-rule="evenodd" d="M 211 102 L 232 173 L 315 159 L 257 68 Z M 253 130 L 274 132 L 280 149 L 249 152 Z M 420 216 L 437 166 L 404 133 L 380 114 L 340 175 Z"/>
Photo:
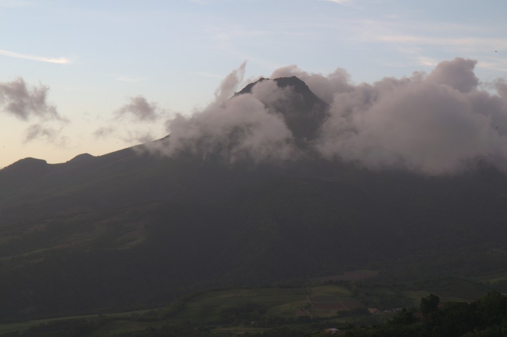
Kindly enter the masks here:
<path id="1" fill-rule="evenodd" d="M 304 148 L 327 105 L 297 78 L 274 81 L 293 87 L 276 111 Z M 230 163 L 149 147 L 0 170 L 0 320 L 153 308 L 196 289 L 357 268 L 391 281 L 507 272 L 507 177 L 486 165 L 426 177 L 311 153 Z"/>

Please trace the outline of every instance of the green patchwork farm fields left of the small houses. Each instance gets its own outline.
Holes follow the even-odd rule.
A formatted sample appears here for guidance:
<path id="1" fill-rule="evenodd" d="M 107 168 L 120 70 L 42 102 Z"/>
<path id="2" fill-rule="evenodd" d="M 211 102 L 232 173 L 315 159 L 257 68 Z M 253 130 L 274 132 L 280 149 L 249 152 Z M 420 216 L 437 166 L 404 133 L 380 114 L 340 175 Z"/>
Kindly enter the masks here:
<path id="1" fill-rule="evenodd" d="M 180 306 L 171 314 L 167 314 L 168 309 L 158 309 L 0 324 L 0 335 L 80 319 L 95 324 L 91 336 L 114 335 L 186 322 L 213 326 L 218 331 L 243 333 L 263 331 L 273 324 L 294 324 L 298 322 L 298 317 L 331 318 L 336 316 L 337 310 L 361 306 L 348 289 L 339 285 L 207 291 L 178 302 Z"/>

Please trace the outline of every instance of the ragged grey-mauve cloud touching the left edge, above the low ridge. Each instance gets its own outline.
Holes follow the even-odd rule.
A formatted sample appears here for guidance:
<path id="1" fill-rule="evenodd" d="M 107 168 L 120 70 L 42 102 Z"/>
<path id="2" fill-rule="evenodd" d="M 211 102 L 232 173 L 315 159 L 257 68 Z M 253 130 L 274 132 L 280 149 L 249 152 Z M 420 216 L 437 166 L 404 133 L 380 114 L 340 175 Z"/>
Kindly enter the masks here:
<path id="1" fill-rule="evenodd" d="M 30 88 L 22 78 L 0 82 L 0 112 L 7 112 L 24 121 L 32 116 L 66 121 L 54 105 L 47 103 L 48 91 L 49 87 L 43 84 Z"/>

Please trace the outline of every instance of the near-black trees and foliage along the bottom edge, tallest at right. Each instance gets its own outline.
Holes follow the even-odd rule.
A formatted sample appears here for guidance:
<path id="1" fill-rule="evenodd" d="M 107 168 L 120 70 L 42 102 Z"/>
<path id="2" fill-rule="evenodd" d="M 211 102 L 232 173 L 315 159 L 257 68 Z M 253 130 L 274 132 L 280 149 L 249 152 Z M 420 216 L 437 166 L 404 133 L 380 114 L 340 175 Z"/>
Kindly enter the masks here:
<path id="1" fill-rule="evenodd" d="M 259 309 L 259 308 L 256 308 Z M 87 336 L 107 324 L 109 318 L 60 320 L 34 326 L 24 332 L 4 334 L 4 337 L 31 336 Z M 346 323 L 343 323 L 346 324 Z M 323 336 L 326 323 L 294 324 L 274 327 L 265 331 L 245 332 L 249 337 Z M 403 309 L 387 322 L 371 327 L 338 326 L 347 337 L 500 337 L 507 335 L 507 296 L 489 292 L 473 302 L 441 303 L 438 296 L 430 294 L 421 298 L 419 310 Z M 150 327 L 135 332 L 123 332 L 112 337 L 227 337 L 236 335 L 228 331 L 216 331 L 211 326 L 191 324 Z"/>

